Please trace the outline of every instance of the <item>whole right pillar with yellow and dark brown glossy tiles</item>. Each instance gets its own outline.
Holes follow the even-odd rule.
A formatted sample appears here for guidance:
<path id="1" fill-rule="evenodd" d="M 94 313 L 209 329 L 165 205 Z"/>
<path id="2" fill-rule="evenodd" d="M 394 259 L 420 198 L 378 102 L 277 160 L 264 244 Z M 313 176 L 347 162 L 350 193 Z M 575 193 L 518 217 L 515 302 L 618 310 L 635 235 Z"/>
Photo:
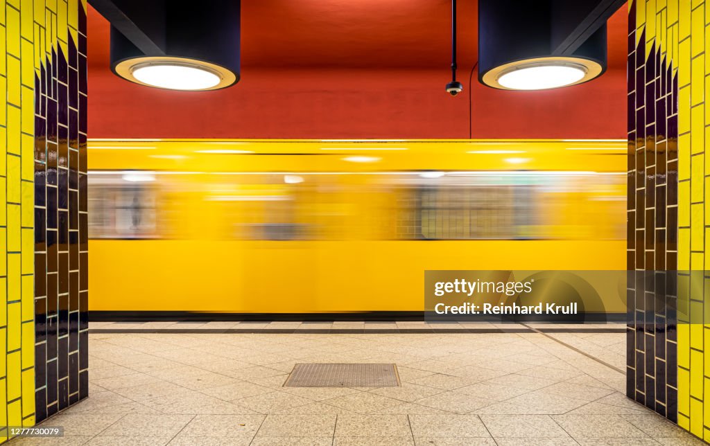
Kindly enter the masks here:
<path id="1" fill-rule="evenodd" d="M 630 3 L 628 267 L 647 273 L 630 284 L 627 391 L 704 440 L 710 440 L 709 25 L 704 0 Z"/>

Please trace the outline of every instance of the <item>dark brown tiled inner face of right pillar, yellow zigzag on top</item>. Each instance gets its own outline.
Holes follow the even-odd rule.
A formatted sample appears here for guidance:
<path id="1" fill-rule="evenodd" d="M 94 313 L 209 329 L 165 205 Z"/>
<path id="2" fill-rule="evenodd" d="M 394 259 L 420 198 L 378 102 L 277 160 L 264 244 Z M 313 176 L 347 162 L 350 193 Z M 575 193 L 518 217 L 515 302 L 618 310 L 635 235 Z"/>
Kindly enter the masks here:
<path id="1" fill-rule="evenodd" d="M 677 12 L 659 6 L 636 0 L 629 10 L 626 378 L 629 398 L 675 421 L 677 70 L 666 33 L 645 19 L 672 24 Z"/>

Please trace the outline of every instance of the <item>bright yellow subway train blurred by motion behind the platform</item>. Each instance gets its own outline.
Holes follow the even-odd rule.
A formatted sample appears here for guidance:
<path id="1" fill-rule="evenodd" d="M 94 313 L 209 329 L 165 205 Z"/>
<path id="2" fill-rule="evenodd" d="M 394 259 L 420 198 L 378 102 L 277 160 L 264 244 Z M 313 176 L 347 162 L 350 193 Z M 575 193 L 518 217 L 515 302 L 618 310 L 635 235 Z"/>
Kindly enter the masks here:
<path id="1" fill-rule="evenodd" d="M 626 269 L 623 141 L 90 140 L 88 178 L 91 311 L 422 311 L 427 269 Z"/>

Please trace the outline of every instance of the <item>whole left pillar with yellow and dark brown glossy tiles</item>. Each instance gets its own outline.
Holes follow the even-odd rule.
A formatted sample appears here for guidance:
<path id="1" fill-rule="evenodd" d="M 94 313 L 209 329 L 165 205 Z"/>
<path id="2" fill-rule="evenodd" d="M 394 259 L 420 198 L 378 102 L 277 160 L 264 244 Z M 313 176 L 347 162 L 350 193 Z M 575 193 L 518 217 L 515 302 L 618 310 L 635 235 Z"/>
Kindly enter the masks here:
<path id="1" fill-rule="evenodd" d="M 86 255 L 82 263 L 80 254 L 86 250 L 80 245 L 86 181 L 78 173 L 81 166 L 86 172 L 85 33 L 85 0 L 0 5 L 0 85 L 6 91 L 0 106 L 0 345 L 6 345 L 0 442 L 9 437 L 9 426 L 33 425 L 87 394 L 86 374 L 80 374 L 87 368 L 86 318 L 80 318 L 86 309 L 80 289 L 87 287 Z M 50 188 L 53 216 L 45 201 Z M 50 340 L 54 356 L 40 347 Z"/>

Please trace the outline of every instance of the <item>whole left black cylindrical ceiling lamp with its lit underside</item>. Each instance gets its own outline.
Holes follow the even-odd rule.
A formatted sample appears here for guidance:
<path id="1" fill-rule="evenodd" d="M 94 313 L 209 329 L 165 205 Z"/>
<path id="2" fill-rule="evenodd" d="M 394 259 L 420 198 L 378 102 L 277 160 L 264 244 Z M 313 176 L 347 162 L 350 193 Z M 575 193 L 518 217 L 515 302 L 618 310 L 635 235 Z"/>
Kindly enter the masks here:
<path id="1" fill-rule="evenodd" d="M 142 9 L 127 0 L 93 4 L 111 21 L 111 70 L 120 77 L 148 87 L 190 91 L 239 82 L 239 0 L 190 6 L 160 0 Z"/>

